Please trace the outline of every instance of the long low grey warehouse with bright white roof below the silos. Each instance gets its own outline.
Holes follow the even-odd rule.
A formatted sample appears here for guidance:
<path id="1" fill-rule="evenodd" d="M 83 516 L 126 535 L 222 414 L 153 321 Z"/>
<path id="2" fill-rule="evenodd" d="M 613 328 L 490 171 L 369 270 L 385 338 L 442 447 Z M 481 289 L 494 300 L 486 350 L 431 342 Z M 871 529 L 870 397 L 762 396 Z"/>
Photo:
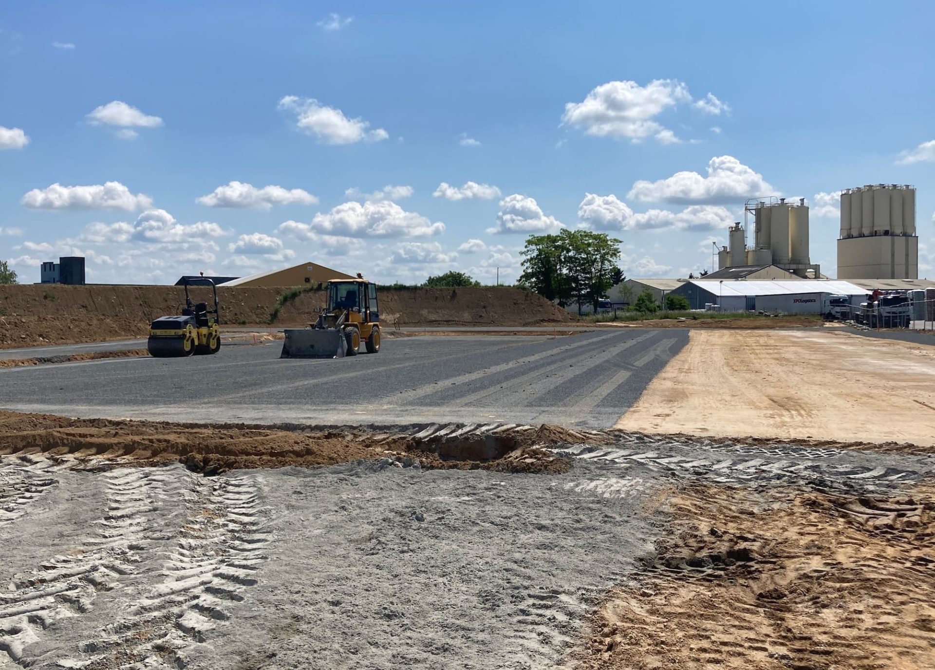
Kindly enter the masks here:
<path id="1" fill-rule="evenodd" d="M 689 279 L 672 291 L 683 295 L 692 309 L 718 305 L 721 311 L 766 311 L 783 314 L 820 314 L 831 295 L 847 295 L 859 306 L 869 291 L 849 281 L 834 279 L 775 279 L 772 281 L 721 281 Z"/>

